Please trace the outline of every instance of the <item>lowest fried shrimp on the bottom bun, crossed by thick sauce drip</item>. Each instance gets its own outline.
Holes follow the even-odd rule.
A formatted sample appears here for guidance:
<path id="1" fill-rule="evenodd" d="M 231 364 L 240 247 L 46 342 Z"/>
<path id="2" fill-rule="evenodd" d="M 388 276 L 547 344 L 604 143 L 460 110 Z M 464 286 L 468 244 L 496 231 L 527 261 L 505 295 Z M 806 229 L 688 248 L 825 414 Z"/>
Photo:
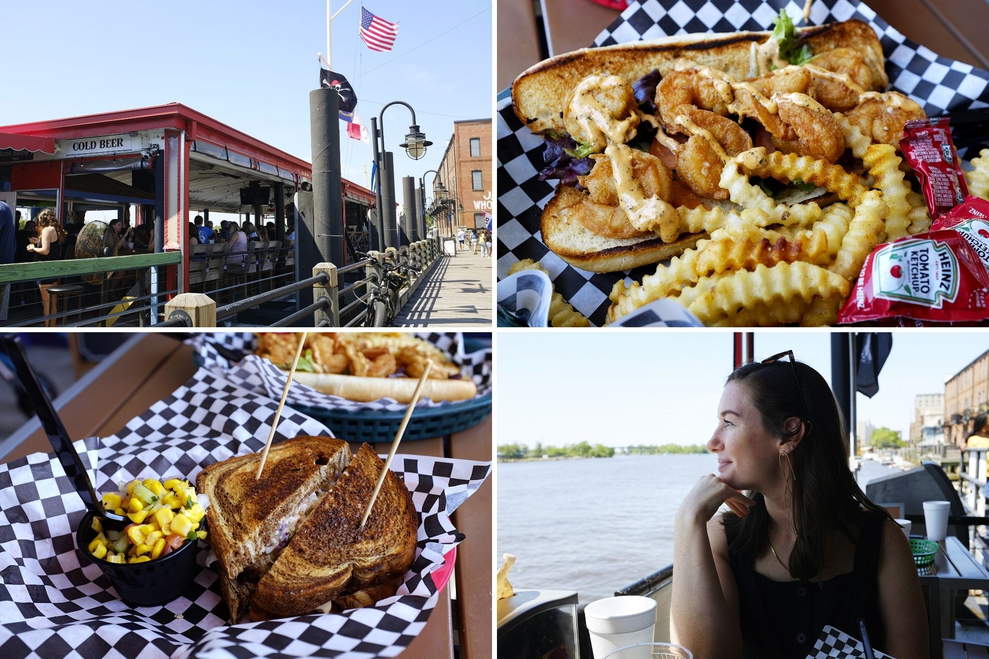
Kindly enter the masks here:
<path id="1" fill-rule="evenodd" d="M 635 148 L 628 150 L 632 176 L 642 186 L 643 196 L 669 201 L 673 184 L 670 170 L 654 155 Z M 580 178 L 587 194 L 568 207 L 570 215 L 597 235 L 612 238 L 650 235 L 651 231 L 637 229 L 622 208 L 611 158 L 603 153 L 591 157 L 594 160 L 593 169 Z"/>

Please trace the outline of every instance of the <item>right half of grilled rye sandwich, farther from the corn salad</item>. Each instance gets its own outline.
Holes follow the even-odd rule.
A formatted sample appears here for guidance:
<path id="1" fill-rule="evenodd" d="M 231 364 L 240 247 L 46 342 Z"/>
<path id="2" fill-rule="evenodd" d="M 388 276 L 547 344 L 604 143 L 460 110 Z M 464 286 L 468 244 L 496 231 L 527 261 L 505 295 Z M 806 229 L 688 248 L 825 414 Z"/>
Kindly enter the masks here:
<path id="1" fill-rule="evenodd" d="M 369 589 L 408 571 L 418 517 L 395 472 L 386 474 L 371 515 L 360 527 L 384 467 L 371 447 L 362 444 L 258 582 L 250 602 L 252 620 L 312 612 L 341 593 Z"/>

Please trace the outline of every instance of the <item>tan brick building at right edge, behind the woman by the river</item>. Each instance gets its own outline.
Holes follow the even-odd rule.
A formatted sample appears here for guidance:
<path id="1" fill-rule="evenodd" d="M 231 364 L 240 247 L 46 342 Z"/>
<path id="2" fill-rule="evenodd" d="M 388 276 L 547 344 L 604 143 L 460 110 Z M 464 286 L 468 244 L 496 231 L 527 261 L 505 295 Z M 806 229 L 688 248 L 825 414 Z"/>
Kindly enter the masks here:
<path id="1" fill-rule="evenodd" d="M 962 448 L 973 434 L 989 436 L 989 350 L 944 383 L 944 441 Z"/>

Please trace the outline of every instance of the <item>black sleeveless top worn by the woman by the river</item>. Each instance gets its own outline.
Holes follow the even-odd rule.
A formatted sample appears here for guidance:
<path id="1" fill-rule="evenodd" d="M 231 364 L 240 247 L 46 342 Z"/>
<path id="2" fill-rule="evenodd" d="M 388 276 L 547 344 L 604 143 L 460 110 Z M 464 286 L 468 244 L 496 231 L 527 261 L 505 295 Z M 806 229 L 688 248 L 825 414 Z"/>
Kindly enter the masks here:
<path id="1" fill-rule="evenodd" d="M 753 569 L 752 560 L 732 552 L 742 622 L 743 657 L 805 659 L 826 625 L 855 638 L 863 618 L 872 647 L 883 649 L 886 633 L 877 606 L 879 544 L 884 518 L 868 514 L 855 542 L 854 568 L 823 582 L 778 582 Z"/>

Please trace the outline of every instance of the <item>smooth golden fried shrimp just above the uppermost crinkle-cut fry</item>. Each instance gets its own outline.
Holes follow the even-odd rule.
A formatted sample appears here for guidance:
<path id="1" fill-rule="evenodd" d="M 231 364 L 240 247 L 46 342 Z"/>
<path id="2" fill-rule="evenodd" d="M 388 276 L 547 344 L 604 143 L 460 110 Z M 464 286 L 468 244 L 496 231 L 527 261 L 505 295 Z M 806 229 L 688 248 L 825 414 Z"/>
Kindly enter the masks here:
<path id="1" fill-rule="evenodd" d="M 776 148 L 828 162 L 836 162 L 842 157 L 845 133 L 827 108 L 805 94 L 773 94 L 772 100 L 787 134 L 793 136 L 773 134 L 772 143 Z"/>

